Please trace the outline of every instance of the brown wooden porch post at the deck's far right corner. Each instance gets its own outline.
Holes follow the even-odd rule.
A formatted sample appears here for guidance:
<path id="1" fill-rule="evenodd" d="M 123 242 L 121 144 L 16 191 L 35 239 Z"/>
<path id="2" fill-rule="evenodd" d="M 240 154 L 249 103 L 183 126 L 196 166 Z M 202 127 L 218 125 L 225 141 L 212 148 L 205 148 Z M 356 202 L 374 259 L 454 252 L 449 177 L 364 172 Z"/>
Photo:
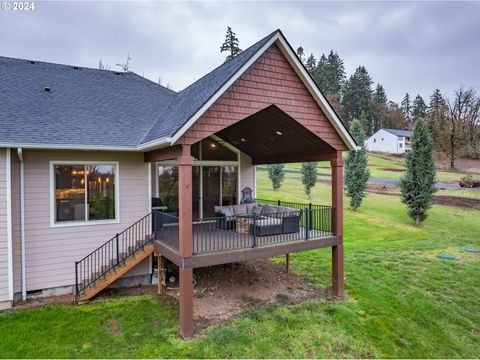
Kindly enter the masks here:
<path id="1" fill-rule="evenodd" d="M 344 296 L 343 278 L 343 158 L 337 152 L 330 161 L 332 167 L 332 206 L 334 207 L 333 230 L 339 236 L 341 243 L 332 247 L 332 289 L 335 298 Z"/>

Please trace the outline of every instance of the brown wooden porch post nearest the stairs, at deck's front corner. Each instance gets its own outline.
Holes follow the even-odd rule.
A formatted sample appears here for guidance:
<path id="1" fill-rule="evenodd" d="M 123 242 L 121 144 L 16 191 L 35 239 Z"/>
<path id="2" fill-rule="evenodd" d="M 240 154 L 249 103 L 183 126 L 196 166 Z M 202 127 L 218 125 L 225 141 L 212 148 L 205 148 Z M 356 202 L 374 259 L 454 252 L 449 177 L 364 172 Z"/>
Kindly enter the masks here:
<path id="1" fill-rule="evenodd" d="M 178 161 L 178 253 L 182 258 L 192 256 L 192 157 L 190 146 L 182 145 Z M 193 335 L 193 270 L 180 267 L 180 335 Z"/>

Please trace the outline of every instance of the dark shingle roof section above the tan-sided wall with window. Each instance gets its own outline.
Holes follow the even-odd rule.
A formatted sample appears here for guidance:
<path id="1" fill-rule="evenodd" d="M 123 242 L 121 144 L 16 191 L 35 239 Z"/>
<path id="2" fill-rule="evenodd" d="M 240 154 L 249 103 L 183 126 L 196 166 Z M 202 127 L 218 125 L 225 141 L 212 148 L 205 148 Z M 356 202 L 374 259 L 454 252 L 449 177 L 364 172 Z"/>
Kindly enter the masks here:
<path id="1" fill-rule="evenodd" d="M 175 96 L 134 73 L 0 57 L 0 143 L 135 146 Z"/>

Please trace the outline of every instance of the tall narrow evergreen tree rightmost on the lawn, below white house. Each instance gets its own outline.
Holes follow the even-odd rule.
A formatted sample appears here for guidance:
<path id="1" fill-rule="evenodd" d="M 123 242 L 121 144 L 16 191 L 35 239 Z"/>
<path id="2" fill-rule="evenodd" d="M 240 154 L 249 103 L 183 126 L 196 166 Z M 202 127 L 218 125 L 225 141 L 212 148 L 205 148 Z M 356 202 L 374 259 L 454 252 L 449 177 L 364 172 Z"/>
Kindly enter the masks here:
<path id="1" fill-rule="evenodd" d="M 405 175 L 400 179 L 402 202 L 408 207 L 408 214 L 416 224 L 427 217 L 435 192 L 435 162 L 433 141 L 428 125 L 423 119 L 415 122 L 412 150 L 407 153 Z"/>

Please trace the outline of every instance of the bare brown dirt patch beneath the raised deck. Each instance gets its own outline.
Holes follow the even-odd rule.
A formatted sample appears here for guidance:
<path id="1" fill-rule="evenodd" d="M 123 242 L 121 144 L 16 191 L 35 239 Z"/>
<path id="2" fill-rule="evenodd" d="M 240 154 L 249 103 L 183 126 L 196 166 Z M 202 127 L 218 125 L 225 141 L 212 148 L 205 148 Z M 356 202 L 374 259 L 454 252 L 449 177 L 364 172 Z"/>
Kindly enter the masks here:
<path id="1" fill-rule="evenodd" d="M 251 307 L 295 304 L 327 297 L 298 275 L 269 260 L 247 261 L 195 270 L 194 314 L 197 327 L 238 316 Z M 167 294 L 178 299 L 178 289 Z"/>

